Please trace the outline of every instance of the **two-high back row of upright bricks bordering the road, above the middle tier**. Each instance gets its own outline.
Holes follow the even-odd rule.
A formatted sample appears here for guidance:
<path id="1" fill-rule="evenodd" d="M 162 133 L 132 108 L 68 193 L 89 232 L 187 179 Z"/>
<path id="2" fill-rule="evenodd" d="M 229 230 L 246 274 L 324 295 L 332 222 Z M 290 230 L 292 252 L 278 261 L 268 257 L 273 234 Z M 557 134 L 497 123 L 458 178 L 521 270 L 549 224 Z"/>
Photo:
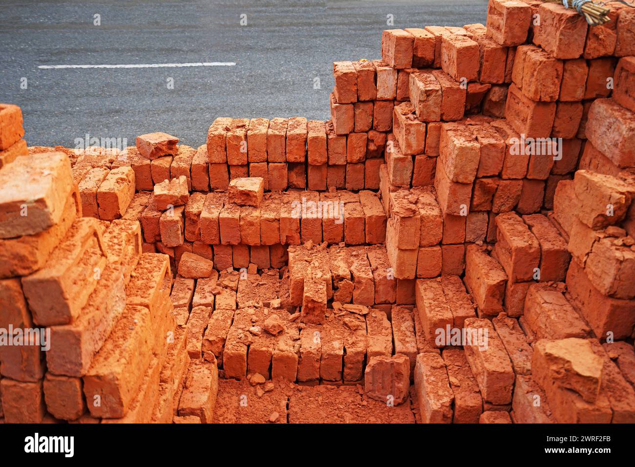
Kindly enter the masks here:
<path id="1" fill-rule="evenodd" d="M 377 189 L 385 133 L 371 130 L 372 115 L 366 118 L 370 123 L 349 139 L 334 121 L 217 118 L 197 154 L 207 156 L 211 190 L 244 177 L 262 177 L 267 191 Z"/>

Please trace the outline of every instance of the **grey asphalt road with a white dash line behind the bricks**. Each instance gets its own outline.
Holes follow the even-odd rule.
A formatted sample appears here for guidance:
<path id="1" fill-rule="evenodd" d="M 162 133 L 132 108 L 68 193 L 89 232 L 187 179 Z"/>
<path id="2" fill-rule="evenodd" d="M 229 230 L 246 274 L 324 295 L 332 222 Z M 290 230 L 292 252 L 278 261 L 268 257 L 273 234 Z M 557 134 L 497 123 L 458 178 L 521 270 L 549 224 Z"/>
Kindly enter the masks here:
<path id="1" fill-rule="evenodd" d="M 485 23 L 486 4 L 1 0 L 0 102 L 22 107 L 30 146 L 74 147 L 86 133 L 134 144 L 164 131 L 196 147 L 218 116 L 328 119 L 333 61 L 380 58 L 383 29 Z M 38 68 L 184 62 L 236 65 Z"/>

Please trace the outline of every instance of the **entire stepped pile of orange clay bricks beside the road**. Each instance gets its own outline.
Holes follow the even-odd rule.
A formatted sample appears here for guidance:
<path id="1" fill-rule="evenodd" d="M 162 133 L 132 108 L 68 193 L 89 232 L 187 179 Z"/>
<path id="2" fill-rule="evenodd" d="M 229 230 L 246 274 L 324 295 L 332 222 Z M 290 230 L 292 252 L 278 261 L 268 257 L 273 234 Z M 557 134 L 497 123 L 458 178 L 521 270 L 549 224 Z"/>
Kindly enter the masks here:
<path id="1" fill-rule="evenodd" d="M 0 104 L 0 328 L 51 334 L 0 346 L 0 421 L 211 423 L 219 382 L 264 377 L 410 391 L 424 423 L 633 423 L 635 13 L 611 10 L 385 30 L 333 64 L 329 121 L 217 118 L 196 149 L 27 148 Z"/>

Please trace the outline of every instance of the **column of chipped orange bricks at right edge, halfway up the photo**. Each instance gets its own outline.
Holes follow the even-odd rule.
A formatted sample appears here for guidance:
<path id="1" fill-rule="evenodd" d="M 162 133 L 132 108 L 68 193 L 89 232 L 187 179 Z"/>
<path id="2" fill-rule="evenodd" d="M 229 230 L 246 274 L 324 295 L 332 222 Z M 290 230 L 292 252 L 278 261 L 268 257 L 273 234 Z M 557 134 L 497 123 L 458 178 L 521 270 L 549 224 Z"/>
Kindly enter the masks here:
<path id="1" fill-rule="evenodd" d="M 632 117 L 631 112 L 634 123 Z M 634 175 L 632 169 L 618 172 L 617 177 L 578 170 L 572 181 L 558 185 L 554 201 L 554 216 L 568 235 L 572 255 L 566 274 L 568 295 L 603 339 L 632 337 L 635 325 L 630 279 L 635 272 Z"/>

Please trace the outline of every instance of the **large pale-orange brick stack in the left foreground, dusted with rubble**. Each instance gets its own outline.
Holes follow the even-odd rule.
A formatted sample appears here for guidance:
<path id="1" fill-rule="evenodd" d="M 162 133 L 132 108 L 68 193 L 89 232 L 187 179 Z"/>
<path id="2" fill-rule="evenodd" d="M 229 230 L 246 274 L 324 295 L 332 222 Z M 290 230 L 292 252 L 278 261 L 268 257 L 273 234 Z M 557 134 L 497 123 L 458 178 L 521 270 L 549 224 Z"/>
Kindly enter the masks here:
<path id="1" fill-rule="evenodd" d="M 4 421 L 171 422 L 189 358 L 168 257 L 142 254 L 137 219 L 82 217 L 64 152 L 20 156 L 0 178 Z M 122 185 L 99 193 L 125 210 Z"/>

